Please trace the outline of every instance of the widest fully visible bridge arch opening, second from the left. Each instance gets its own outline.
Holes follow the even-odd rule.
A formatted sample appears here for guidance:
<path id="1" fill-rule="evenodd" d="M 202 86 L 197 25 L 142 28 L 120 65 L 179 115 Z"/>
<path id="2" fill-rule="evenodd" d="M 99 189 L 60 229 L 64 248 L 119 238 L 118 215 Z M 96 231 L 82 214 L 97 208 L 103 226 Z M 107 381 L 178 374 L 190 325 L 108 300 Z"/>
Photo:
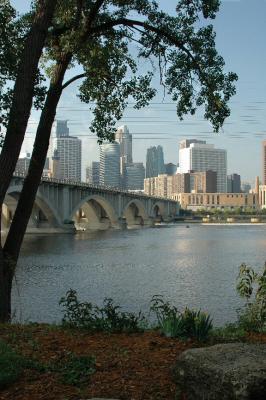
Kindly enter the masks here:
<path id="1" fill-rule="evenodd" d="M 118 226 L 118 216 L 112 204 L 99 195 L 89 195 L 72 210 L 70 219 L 78 229 L 108 229 Z"/>

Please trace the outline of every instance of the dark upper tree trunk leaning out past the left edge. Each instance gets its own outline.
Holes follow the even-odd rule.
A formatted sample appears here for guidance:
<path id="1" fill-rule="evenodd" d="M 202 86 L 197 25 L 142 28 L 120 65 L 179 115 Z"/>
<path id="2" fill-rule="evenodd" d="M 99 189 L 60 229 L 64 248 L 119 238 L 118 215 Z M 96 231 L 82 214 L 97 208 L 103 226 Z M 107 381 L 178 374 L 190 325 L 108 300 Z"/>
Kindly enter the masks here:
<path id="1" fill-rule="evenodd" d="M 9 122 L 0 155 L 0 209 L 15 170 L 26 132 L 38 63 L 56 3 L 56 0 L 39 0 L 35 19 L 25 41 L 18 66 Z"/>

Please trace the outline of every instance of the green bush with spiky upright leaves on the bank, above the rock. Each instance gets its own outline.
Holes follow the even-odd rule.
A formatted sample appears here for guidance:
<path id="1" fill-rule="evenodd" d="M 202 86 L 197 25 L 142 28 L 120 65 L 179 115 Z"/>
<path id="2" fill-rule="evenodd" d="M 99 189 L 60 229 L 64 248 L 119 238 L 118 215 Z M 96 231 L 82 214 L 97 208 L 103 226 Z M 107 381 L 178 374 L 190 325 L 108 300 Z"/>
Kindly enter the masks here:
<path id="1" fill-rule="evenodd" d="M 162 296 L 153 296 L 150 310 L 155 313 L 158 326 L 166 337 L 195 338 L 203 341 L 212 329 L 209 315 L 189 308 L 180 312 L 168 301 L 164 301 Z"/>

